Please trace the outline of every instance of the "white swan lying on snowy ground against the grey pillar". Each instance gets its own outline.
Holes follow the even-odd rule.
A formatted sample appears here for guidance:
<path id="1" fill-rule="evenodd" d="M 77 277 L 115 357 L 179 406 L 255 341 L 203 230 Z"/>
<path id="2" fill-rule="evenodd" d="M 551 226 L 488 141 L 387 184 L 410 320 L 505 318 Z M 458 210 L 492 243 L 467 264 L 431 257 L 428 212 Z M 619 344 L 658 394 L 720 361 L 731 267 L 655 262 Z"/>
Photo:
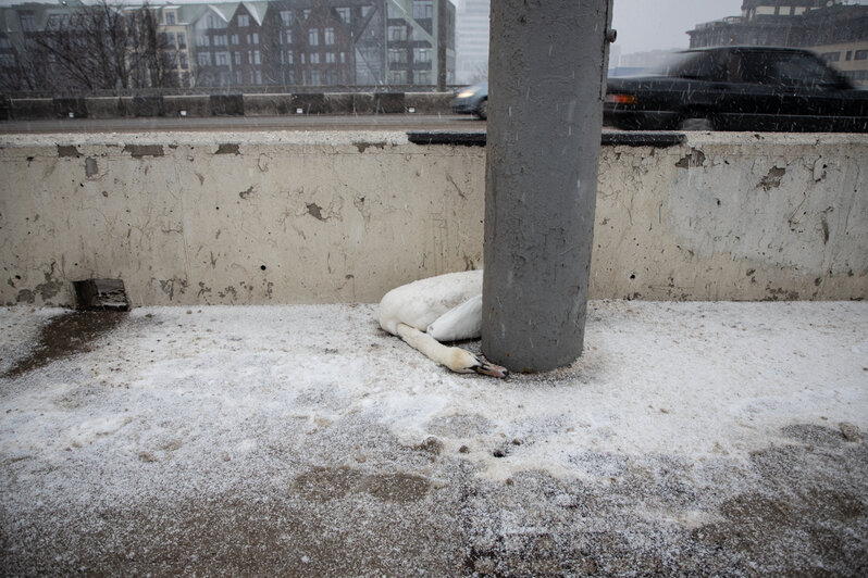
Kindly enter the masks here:
<path id="1" fill-rule="evenodd" d="M 482 271 L 447 273 L 393 289 L 380 301 L 380 327 L 452 372 L 509 375 L 506 367 L 439 342 L 480 337 Z"/>

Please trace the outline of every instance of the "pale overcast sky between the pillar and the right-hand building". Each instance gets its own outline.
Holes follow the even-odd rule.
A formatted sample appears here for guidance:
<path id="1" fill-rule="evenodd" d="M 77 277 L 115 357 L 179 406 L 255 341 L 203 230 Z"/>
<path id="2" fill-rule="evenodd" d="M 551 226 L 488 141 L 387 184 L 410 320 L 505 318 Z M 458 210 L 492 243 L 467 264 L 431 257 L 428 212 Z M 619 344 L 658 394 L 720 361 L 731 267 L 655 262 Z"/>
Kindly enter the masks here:
<path id="1" fill-rule="evenodd" d="M 615 0 L 612 27 L 622 54 L 687 48 L 684 34 L 700 22 L 737 16 L 742 0 Z"/>

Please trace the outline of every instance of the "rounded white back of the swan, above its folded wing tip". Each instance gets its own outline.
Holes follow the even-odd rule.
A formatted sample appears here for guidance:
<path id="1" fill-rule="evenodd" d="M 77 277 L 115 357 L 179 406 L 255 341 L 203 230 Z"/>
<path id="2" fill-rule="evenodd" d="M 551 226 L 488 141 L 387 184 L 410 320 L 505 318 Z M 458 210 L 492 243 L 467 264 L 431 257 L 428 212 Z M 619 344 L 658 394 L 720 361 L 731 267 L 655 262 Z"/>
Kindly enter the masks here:
<path id="1" fill-rule="evenodd" d="M 482 271 L 447 273 L 397 287 L 380 302 L 380 326 L 398 335 L 399 323 L 424 331 L 441 315 L 482 294 Z"/>

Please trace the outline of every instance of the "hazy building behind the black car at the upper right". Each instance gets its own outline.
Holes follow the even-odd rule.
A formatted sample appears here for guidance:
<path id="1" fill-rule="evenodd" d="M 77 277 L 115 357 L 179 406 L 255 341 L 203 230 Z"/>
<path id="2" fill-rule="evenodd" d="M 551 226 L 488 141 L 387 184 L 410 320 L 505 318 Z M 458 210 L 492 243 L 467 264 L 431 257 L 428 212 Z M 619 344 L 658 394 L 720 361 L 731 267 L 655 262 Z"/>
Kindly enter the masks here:
<path id="1" fill-rule="evenodd" d="M 807 48 L 868 86 L 868 5 L 843 0 L 744 0 L 742 14 L 689 30 L 691 48 Z"/>

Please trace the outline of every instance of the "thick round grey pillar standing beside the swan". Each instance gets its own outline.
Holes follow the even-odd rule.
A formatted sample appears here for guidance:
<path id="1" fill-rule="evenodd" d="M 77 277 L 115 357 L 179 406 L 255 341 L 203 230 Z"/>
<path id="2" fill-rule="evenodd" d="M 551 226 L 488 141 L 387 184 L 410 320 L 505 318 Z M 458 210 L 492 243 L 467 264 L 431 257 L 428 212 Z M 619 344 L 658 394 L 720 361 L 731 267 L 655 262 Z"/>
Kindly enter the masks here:
<path id="1" fill-rule="evenodd" d="M 482 350 L 582 353 L 611 0 L 492 2 Z"/>

